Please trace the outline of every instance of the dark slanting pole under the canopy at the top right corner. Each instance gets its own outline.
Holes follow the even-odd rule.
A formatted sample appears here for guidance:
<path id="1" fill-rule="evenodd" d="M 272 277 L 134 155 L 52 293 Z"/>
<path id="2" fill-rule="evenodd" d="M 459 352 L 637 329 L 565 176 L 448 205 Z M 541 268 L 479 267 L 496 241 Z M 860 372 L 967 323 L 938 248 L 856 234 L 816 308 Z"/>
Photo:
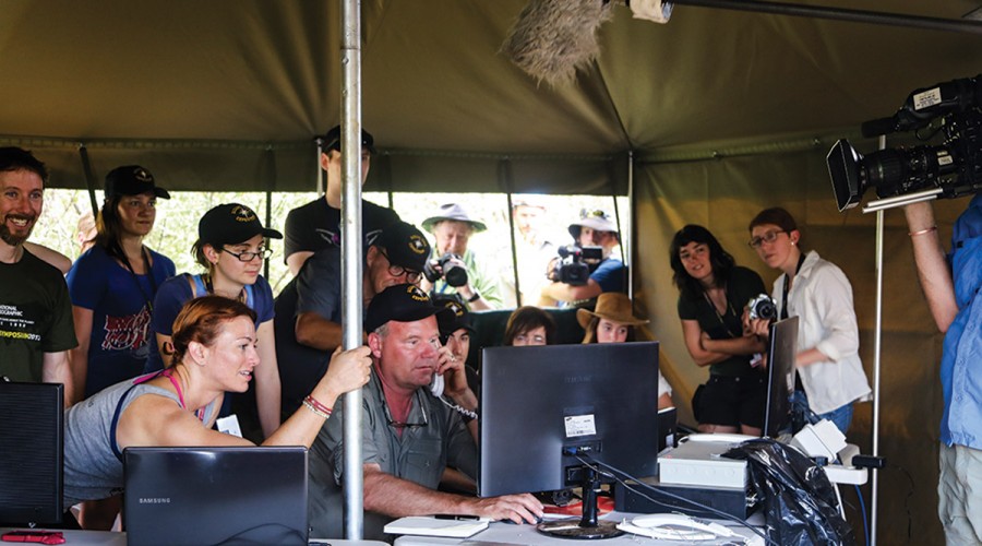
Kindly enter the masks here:
<path id="1" fill-rule="evenodd" d="M 970 20 L 925 17 L 885 13 L 878 11 L 847 10 L 845 8 L 822 8 L 782 2 L 764 2 L 759 0 L 672 0 L 679 5 L 696 5 L 700 8 L 721 8 L 724 10 L 753 11 L 774 13 L 777 15 L 795 15 L 812 19 L 829 19 L 852 23 L 873 23 L 879 25 L 908 26 L 929 31 L 962 32 L 982 34 L 982 23 Z"/>

